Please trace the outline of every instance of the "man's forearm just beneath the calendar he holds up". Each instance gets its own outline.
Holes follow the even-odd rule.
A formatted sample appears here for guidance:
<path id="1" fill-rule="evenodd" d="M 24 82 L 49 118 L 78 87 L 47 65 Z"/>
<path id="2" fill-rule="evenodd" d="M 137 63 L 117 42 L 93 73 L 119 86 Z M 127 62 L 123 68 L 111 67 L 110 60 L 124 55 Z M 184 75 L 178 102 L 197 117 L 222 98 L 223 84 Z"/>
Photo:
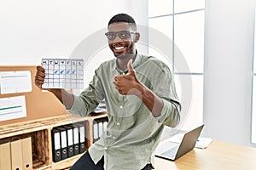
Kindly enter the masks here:
<path id="1" fill-rule="evenodd" d="M 67 109 L 71 109 L 74 100 L 73 94 L 68 93 L 63 88 L 51 88 L 49 91 L 55 94 L 55 96 L 61 101 L 63 105 L 65 105 Z"/>

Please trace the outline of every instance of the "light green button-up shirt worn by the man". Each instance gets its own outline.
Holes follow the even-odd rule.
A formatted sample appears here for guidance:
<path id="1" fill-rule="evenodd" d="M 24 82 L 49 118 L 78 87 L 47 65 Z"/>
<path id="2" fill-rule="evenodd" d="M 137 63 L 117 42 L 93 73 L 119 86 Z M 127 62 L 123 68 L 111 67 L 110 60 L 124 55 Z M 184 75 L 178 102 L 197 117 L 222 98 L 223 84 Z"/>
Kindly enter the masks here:
<path id="1" fill-rule="evenodd" d="M 160 116 L 154 117 L 137 96 L 119 94 L 113 78 L 125 73 L 118 69 L 116 62 L 116 59 L 108 60 L 96 69 L 89 87 L 74 97 L 69 111 L 88 116 L 105 99 L 107 131 L 89 148 L 95 163 L 104 156 L 104 169 L 140 170 L 148 163 L 154 166 L 154 150 L 164 124 L 175 127 L 180 119 L 172 72 L 165 63 L 151 56 L 137 54 L 132 63 L 137 79 L 164 102 Z"/>

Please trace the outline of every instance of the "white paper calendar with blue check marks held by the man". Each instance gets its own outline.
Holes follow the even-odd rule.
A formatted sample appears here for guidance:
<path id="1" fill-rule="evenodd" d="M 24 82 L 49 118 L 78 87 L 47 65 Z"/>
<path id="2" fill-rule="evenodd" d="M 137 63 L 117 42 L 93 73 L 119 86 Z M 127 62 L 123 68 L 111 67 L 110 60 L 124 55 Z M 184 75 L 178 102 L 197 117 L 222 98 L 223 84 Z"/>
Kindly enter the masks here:
<path id="1" fill-rule="evenodd" d="M 84 87 L 84 59 L 42 59 L 45 70 L 42 88 Z"/>

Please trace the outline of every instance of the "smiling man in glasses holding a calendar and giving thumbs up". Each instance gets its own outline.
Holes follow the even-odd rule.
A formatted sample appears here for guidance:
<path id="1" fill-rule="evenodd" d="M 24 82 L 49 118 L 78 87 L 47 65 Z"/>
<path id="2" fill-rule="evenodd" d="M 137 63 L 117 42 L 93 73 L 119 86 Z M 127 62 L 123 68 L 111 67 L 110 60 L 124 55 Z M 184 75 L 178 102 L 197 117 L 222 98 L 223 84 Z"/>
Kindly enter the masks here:
<path id="1" fill-rule="evenodd" d="M 137 53 L 140 34 L 128 14 L 113 16 L 106 36 L 115 59 L 96 69 L 88 88 L 79 96 L 48 89 L 68 111 L 80 116 L 90 114 L 102 99 L 106 102 L 107 131 L 71 169 L 152 169 L 164 124 L 175 127 L 180 119 L 172 73 L 159 59 Z M 42 66 L 35 82 L 42 88 Z"/>

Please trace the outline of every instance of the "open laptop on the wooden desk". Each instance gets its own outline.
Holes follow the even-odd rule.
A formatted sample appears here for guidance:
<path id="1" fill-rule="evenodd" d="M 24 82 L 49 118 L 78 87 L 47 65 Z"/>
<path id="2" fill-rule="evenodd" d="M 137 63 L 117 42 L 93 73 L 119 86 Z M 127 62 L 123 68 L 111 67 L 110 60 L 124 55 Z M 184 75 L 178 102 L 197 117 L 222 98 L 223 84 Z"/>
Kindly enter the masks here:
<path id="1" fill-rule="evenodd" d="M 179 138 L 171 138 L 165 143 L 160 143 L 156 148 L 154 155 L 171 161 L 177 160 L 177 158 L 194 149 L 195 143 L 199 138 L 203 127 L 204 124 L 187 133 L 177 134 Z"/>

